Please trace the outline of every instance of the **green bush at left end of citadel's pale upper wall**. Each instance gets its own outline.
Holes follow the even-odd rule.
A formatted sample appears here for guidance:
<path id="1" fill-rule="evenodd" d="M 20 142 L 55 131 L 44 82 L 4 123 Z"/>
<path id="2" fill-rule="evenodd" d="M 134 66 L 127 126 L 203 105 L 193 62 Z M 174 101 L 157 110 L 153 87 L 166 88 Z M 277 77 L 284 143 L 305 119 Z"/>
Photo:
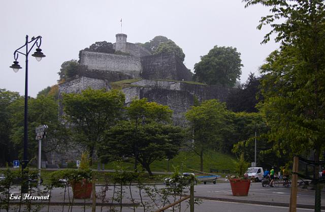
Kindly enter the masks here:
<path id="1" fill-rule="evenodd" d="M 86 69 L 85 65 L 80 65 L 75 59 L 63 62 L 58 72 L 60 77 L 58 82 L 68 81 L 74 79 L 77 75 L 83 75 Z"/>

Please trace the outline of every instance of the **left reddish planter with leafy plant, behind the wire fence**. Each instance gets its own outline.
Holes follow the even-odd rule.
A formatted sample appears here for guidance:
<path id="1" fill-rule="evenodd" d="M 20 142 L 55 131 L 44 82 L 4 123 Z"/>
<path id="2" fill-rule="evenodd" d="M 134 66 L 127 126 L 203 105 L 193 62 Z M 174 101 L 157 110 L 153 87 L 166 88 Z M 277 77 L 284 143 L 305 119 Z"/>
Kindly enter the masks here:
<path id="1" fill-rule="evenodd" d="M 69 176 L 74 198 L 87 199 L 91 196 L 91 170 L 87 153 L 82 153 L 80 168 L 71 172 Z"/>

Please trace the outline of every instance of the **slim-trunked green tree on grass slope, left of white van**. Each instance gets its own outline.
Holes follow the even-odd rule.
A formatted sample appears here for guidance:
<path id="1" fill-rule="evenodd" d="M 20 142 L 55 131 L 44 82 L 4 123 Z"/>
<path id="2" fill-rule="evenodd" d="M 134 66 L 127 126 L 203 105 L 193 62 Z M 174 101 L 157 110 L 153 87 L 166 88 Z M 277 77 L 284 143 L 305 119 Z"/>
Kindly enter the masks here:
<path id="1" fill-rule="evenodd" d="M 205 151 L 218 146 L 223 142 L 225 132 L 232 131 L 232 127 L 225 124 L 227 116 L 225 103 L 220 103 L 218 100 L 207 100 L 200 106 L 192 106 L 185 114 L 189 121 L 191 147 L 200 156 L 201 171 L 203 171 Z"/>

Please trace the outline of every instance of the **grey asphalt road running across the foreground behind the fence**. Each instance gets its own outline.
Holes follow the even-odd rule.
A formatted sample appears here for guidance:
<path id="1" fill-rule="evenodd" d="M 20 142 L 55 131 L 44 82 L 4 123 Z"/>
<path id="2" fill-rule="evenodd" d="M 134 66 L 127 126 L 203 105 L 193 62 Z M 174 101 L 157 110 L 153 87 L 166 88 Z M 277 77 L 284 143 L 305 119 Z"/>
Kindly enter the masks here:
<path id="1" fill-rule="evenodd" d="M 157 185 L 157 188 L 164 188 L 164 185 Z M 101 187 L 96 187 L 96 191 L 99 192 Z M 109 198 L 112 197 L 112 187 L 107 192 Z M 18 188 L 13 190 L 14 193 L 18 194 Z M 51 194 L 51 202 L 62 202 L 63 193 L 62 189 L 54 189 Z M 129 192 L 127 187 L 124 188 L 124 203 L 130 203 Z M 138 188 L 132 187 L 133 197 L 136 201 L 140 202 L 140 195 Z M 322 192 L 322 206 L 325 206 L 325 192 Z M 288 203 L 290 197 L 290 188 L 274 187 L 274 188 L 263 188 L 261 183 L 252 183 L 249 191 L 249 195 L 246 197 L 235 197 L 232 196 L 231 187 L 229 183 L 217 183 L 216 185 L 197 185 L 195 187 L 195 196 L 202 199 L 202 203 L 195 206 L 195 211 L 201 212 L 254 212 L 254 211 L 288 211 Z M 149 201 L 150 198 L 143 193 L 143 201 Z M 66 200 L 67 202 L 68 200 Z M 75 202 L 83 203 L 83 200 L 75 200 Z M 87 200 L 90 204 L 91 200 Z M 101 202 L 100 199 L 97 202 Z M 171 202 L 173 202 L 171 200 Z M 314 191 L 306 189 L 298 189 L 297 203 L 299 212 L 301 211 L 313 211 L 311 209 L 314 204 Z M 183 203 L 181 211 L 189 211 L 187 203 Z M 308 208 L 309 207 L 309 208 Z M 158 209 L 158 206 L 152 209 Z M 75 205 L 72 211 L 83 211 L 83 206 Z M 119 209 L 115 207 L 115 209 Z M 47 211 L 47 207 L 43 207 L 41 211 Z M 50 206 L 50 211 L 62 211 L 62 206 Z M 64 206 L 63 211 L 68 211 L 68 206 Z M 89 206 L 86 206 L 86 211 L 91 211 Z M 101 207 L 96 207 L 96 211 L 101 211 Z M 108 207 L 104 206 L 103 211 L 108 211 Z M 133 211 L 133 208 L 123 207 L 124 212 Z M 139 206 L 136 211 L 144 211 L 143 207 Z M 146 210 L 150 211 L 150 210 Z M 166 211 L 172 211 L 168 209 Z M 176 210 L 175 210 L 176 211 Z M 177 211 L 179 211 L 177 209 Z M 325 211 L 325 210 L 323 210 Z"/>

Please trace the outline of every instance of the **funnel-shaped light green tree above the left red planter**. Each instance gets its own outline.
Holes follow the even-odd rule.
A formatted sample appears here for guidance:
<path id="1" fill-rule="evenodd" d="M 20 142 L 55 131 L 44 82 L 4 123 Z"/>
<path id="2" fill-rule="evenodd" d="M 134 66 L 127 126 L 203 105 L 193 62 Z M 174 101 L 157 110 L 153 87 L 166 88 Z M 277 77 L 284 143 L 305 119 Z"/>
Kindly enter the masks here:
<path id="1" fill-rule="evenodd" d="M 97 144 L 121 116 L 125 96 L 119 90 L 85 89 L 81 94 L 63 94 L 64 119 L 71 124 L 73 139 L 94 157 Z"/>

